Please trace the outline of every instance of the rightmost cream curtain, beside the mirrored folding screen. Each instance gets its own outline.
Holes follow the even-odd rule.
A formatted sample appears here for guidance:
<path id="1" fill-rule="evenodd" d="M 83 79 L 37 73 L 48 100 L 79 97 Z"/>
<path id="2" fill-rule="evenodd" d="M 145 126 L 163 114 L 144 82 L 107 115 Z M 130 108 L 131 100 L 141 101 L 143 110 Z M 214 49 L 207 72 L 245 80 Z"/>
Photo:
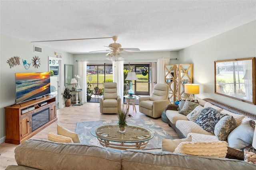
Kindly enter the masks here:
<path id="1" fill-rule="evenodd" d="M 170 58 L 159 58 L 157 59 L 157 69 L 156 69 L 156 83 L 161 83 L 164 84 L 164 76 L 165 76 L 165 72 L 164 72 L 164 65 L 169 64 L 170 63 Z"/>

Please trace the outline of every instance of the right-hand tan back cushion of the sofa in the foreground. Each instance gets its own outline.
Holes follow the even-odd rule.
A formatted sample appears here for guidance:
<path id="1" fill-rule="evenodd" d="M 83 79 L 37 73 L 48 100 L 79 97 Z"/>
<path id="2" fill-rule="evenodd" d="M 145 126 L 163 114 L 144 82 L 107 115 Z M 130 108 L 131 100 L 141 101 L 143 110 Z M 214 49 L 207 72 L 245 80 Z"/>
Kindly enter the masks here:
<path id="1" fill-rule="evenodd" d="M 255 168 L 255 165 L 239 160 L 152 150 L 124 150 L 121 160 L 124 170 L 252 170 Z"/>

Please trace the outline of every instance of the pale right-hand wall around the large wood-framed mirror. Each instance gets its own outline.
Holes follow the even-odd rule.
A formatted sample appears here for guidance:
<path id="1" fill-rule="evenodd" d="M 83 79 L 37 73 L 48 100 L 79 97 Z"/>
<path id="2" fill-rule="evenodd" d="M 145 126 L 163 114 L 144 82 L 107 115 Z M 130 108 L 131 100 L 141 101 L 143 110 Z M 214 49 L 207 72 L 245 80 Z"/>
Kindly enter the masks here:
<path id="1" fill-rule="evenodd" d="M 256 57 L 256 20 L 178 52 L 180 63 L 193 63 L 200 98 L 211 98 L 256 114 L 256 106 L 214 93 L 214 61 Z"/>

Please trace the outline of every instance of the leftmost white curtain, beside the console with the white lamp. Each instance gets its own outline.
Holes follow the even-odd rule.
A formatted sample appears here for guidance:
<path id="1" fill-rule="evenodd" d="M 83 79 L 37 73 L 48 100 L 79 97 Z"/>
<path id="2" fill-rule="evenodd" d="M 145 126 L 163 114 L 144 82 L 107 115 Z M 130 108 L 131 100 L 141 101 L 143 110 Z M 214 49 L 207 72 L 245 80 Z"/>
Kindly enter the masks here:
<path id="1" fill-rule="evenodd" d="M 79 80 L 79 85 L 82 88 L 81 94 L 81 101 L 83 99 L 84 102 L 87 102 L 87 94 L 86 94 L 86 87 L 87 87 L 87 82 L 86 82 L 86 67 L 87 67 L 87 62 L 86 61 L 78 61 L 78 75 L 81 77 Z"/>

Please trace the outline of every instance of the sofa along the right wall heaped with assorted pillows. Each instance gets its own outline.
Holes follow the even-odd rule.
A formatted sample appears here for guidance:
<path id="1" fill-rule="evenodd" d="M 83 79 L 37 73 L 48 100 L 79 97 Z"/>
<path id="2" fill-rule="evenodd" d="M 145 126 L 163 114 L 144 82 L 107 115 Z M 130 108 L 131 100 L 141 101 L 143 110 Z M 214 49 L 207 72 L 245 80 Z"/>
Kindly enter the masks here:
<path id="1" fill-rule="evenodd" d="M 205 112 L 202 113 L 203 111 Z M 255 123 L 250 120 L 256 120 L 256 115 L 218 101 L 200 98 L 194 101 L 180 101 L 180 108 L 172 104 L 166 107 L 166 117 L 169 126 L 176 130 L 181 139 L 228 142 L 226 158 L 244 160 L 243 149 L 252 146 Z M 206 117 L 214 119 L 205 121 Z M 217 123 L 206 127 L 205 124 L 211 121 Z M 212 131 L 208 128 L 212 128 Z"/>

